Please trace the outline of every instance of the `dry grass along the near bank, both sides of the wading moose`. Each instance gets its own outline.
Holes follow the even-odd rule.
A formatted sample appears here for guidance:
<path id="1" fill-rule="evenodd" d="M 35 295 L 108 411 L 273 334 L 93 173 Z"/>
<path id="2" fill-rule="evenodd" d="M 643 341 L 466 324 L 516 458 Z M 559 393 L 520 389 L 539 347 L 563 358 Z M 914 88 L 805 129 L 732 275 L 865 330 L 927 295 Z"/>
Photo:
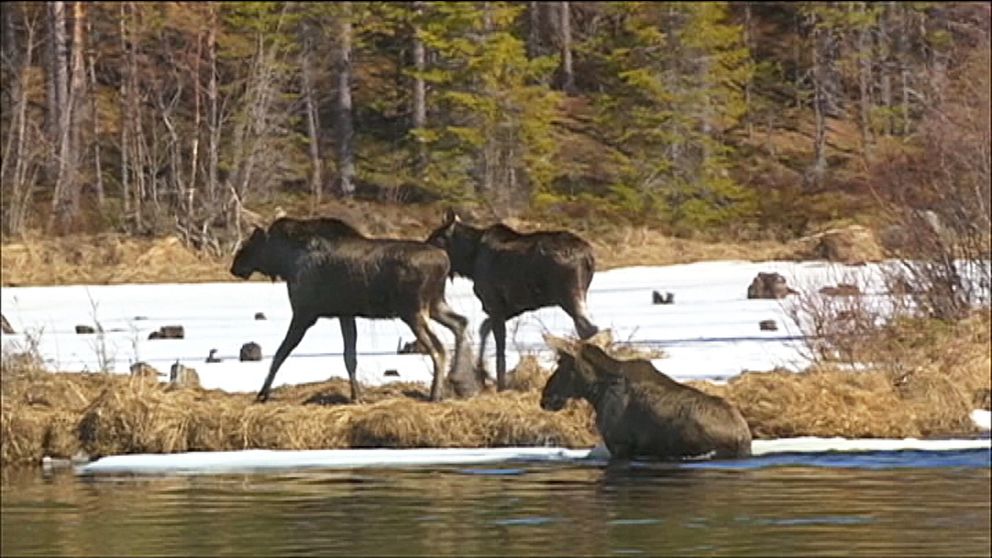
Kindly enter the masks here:
<path id="1" fill-rule="evenodd" d="M 921 358 L 912 374 L 816 367 L 805 372 L 747 372 L 725 385 L 691 385 L 725 397 L 755 438 L 792 436 L 929 437 L 974 432 L 968 415 L 989 389 L 988 317 L 942 332 L 958 340 L 953 359 Z M 664 367 L 662 366 L 662 369 Z M 2 455 L 7 464 L 126 453 L 360 447 L 591 447 L 592 410 L 573 401 L 558 413 L 540 408 L 549 370 L 524 358 L 510 389 L 468 400 L 430 403 L 427 387 L 369 387 L 347 401 L 348 383 L 332 380 L 254 394 L 172 389 L 153 380 L 106 374 L 48 373 L 5 355 Z"/>

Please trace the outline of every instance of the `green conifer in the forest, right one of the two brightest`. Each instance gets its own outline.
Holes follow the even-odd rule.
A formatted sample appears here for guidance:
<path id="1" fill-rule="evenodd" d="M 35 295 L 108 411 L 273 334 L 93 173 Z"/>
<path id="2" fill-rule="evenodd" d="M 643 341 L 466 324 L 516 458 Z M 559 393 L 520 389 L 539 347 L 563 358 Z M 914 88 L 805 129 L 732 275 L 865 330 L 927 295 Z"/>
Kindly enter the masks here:
<path id="1" fill-rule="evenodd" d="M 743 30 L 727 16 L 726 3 L 613 3 L 617 32 L 581 46 L 606 84 L 594 102 L 620 169 L 619 207 L 692 228 L 752 210 L 723 141 L 744 115 L 752 71 Z"/>

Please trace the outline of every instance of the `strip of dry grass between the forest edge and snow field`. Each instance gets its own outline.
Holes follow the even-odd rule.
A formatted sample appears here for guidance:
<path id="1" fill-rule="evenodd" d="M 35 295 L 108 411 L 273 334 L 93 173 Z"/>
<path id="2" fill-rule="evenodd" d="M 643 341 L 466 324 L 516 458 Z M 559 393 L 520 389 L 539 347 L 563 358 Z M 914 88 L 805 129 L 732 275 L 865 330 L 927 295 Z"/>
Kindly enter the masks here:
<path id="1" fill-rule="evenodd" d="M 440 223 L 442 209 L 439 205 L 391 206 L 334 201 L 316 210 L 292 206 L 288 209 L 281 206 L 263 207 L 258 208 L 257 215 L 264 222 L 271 222 L 284 213 L 300 218 L 337 217 L 348 220 L 371 236 L 424 239 Z M 466 210 L 465 213 L 466 219 L 474 223 L 487 224 L 498 220 L 478 210 Z M 524 232 L 548 228 L 568 228 L 577 232 L 592 243 L 600 270 L 707 260 L 767 261 L 812 257 L 870 261 L 879 256 L 877 248 L 865 252 L 848 247 L 850 241 L 836 241 L 838 234 L 835 233 L 824 238 L 840 244 L 842 249 L 835 250 L 832 244 L 822 246 L 826 242 L 821 240 L 823 235 L 788 243 L 774 240 L 711 241 L 676 238 L 653 228 L 598 221 L 552 223 L 508 218 L 505 222 Z M 842 233 L 840 236 L 844 237 Z M 0 246 L 3 285 L 233 281 L 229 267 L 230 257 L 193 250 L 175 236 L 142 238 L 104 233 L 43 237 L 28 234 L 17 240 L 5 239 Z"/>

